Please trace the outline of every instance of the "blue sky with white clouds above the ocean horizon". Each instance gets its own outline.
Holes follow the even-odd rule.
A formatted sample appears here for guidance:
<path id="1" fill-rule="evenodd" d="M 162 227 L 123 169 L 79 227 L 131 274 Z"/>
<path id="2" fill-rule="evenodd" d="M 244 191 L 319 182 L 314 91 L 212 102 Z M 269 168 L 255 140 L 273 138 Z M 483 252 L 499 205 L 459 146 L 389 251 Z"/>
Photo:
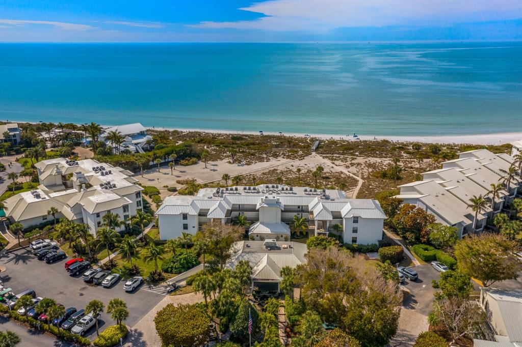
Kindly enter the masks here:
<path id="1" fill-rule="evenodd" d="M 522 0 L 0 0 L 0 42 L 522 40 Z"/>

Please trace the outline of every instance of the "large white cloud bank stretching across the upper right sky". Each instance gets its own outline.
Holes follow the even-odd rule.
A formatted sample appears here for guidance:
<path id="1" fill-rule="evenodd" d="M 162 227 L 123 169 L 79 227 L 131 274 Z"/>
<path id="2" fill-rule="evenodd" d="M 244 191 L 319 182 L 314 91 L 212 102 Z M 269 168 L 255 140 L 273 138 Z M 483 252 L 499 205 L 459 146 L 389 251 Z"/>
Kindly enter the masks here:
<path id="1" fill-rule="evenodd" d="M 522 17 L 519 0 L 271 0 L 240 10 L 263 14 L 254 20 L 189 25 L 208 29 L 327 31 L 341 27 L 451 24 Z"/>

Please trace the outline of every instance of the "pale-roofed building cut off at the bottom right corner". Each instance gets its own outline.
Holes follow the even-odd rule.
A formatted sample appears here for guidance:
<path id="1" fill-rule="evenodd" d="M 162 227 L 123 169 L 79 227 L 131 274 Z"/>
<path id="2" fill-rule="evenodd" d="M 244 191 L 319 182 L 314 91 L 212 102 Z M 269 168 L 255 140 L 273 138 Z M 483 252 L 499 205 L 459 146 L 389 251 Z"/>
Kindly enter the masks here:
<path id="1" fill-rule="evenodd" d="M 521 347 L 522 290 L 482 288 L 480 305 L 496 341 L 473 340 L 473 346 Z"/>

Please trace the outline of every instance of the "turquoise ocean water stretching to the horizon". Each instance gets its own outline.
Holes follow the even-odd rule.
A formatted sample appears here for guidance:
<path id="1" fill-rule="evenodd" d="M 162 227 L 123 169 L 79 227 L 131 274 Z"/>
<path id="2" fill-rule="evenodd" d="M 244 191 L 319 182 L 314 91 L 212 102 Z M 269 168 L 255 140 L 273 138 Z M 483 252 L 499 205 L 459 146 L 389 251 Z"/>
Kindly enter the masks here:
<path id="1" fill-rule="evenodd" d="M 522 43 L 0 44 L 0 119 L 446 135 L 522 129 Z"/>

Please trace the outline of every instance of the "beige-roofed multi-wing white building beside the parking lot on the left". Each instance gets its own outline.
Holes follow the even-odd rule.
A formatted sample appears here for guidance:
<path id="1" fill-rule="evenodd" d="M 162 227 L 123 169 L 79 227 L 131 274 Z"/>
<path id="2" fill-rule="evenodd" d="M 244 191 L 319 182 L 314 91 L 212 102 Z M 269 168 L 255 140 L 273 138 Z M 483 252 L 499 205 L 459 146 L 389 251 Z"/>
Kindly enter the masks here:
<path id="1" fill-rule="evenodd" d="M 38 188 L 5 200 L 6 216 L 25 228 L 52 220 L 48 211 L 55 207 L 57 219 L 85 223 L 96 236 L 106 213 L 118 214 L 127 221 L 143 209 L 143 188 L 135 184 L 137 180 L 128 170 L 93 159 L 56 158 L 42 160 L 35 166 L 40 180 Z"/>

